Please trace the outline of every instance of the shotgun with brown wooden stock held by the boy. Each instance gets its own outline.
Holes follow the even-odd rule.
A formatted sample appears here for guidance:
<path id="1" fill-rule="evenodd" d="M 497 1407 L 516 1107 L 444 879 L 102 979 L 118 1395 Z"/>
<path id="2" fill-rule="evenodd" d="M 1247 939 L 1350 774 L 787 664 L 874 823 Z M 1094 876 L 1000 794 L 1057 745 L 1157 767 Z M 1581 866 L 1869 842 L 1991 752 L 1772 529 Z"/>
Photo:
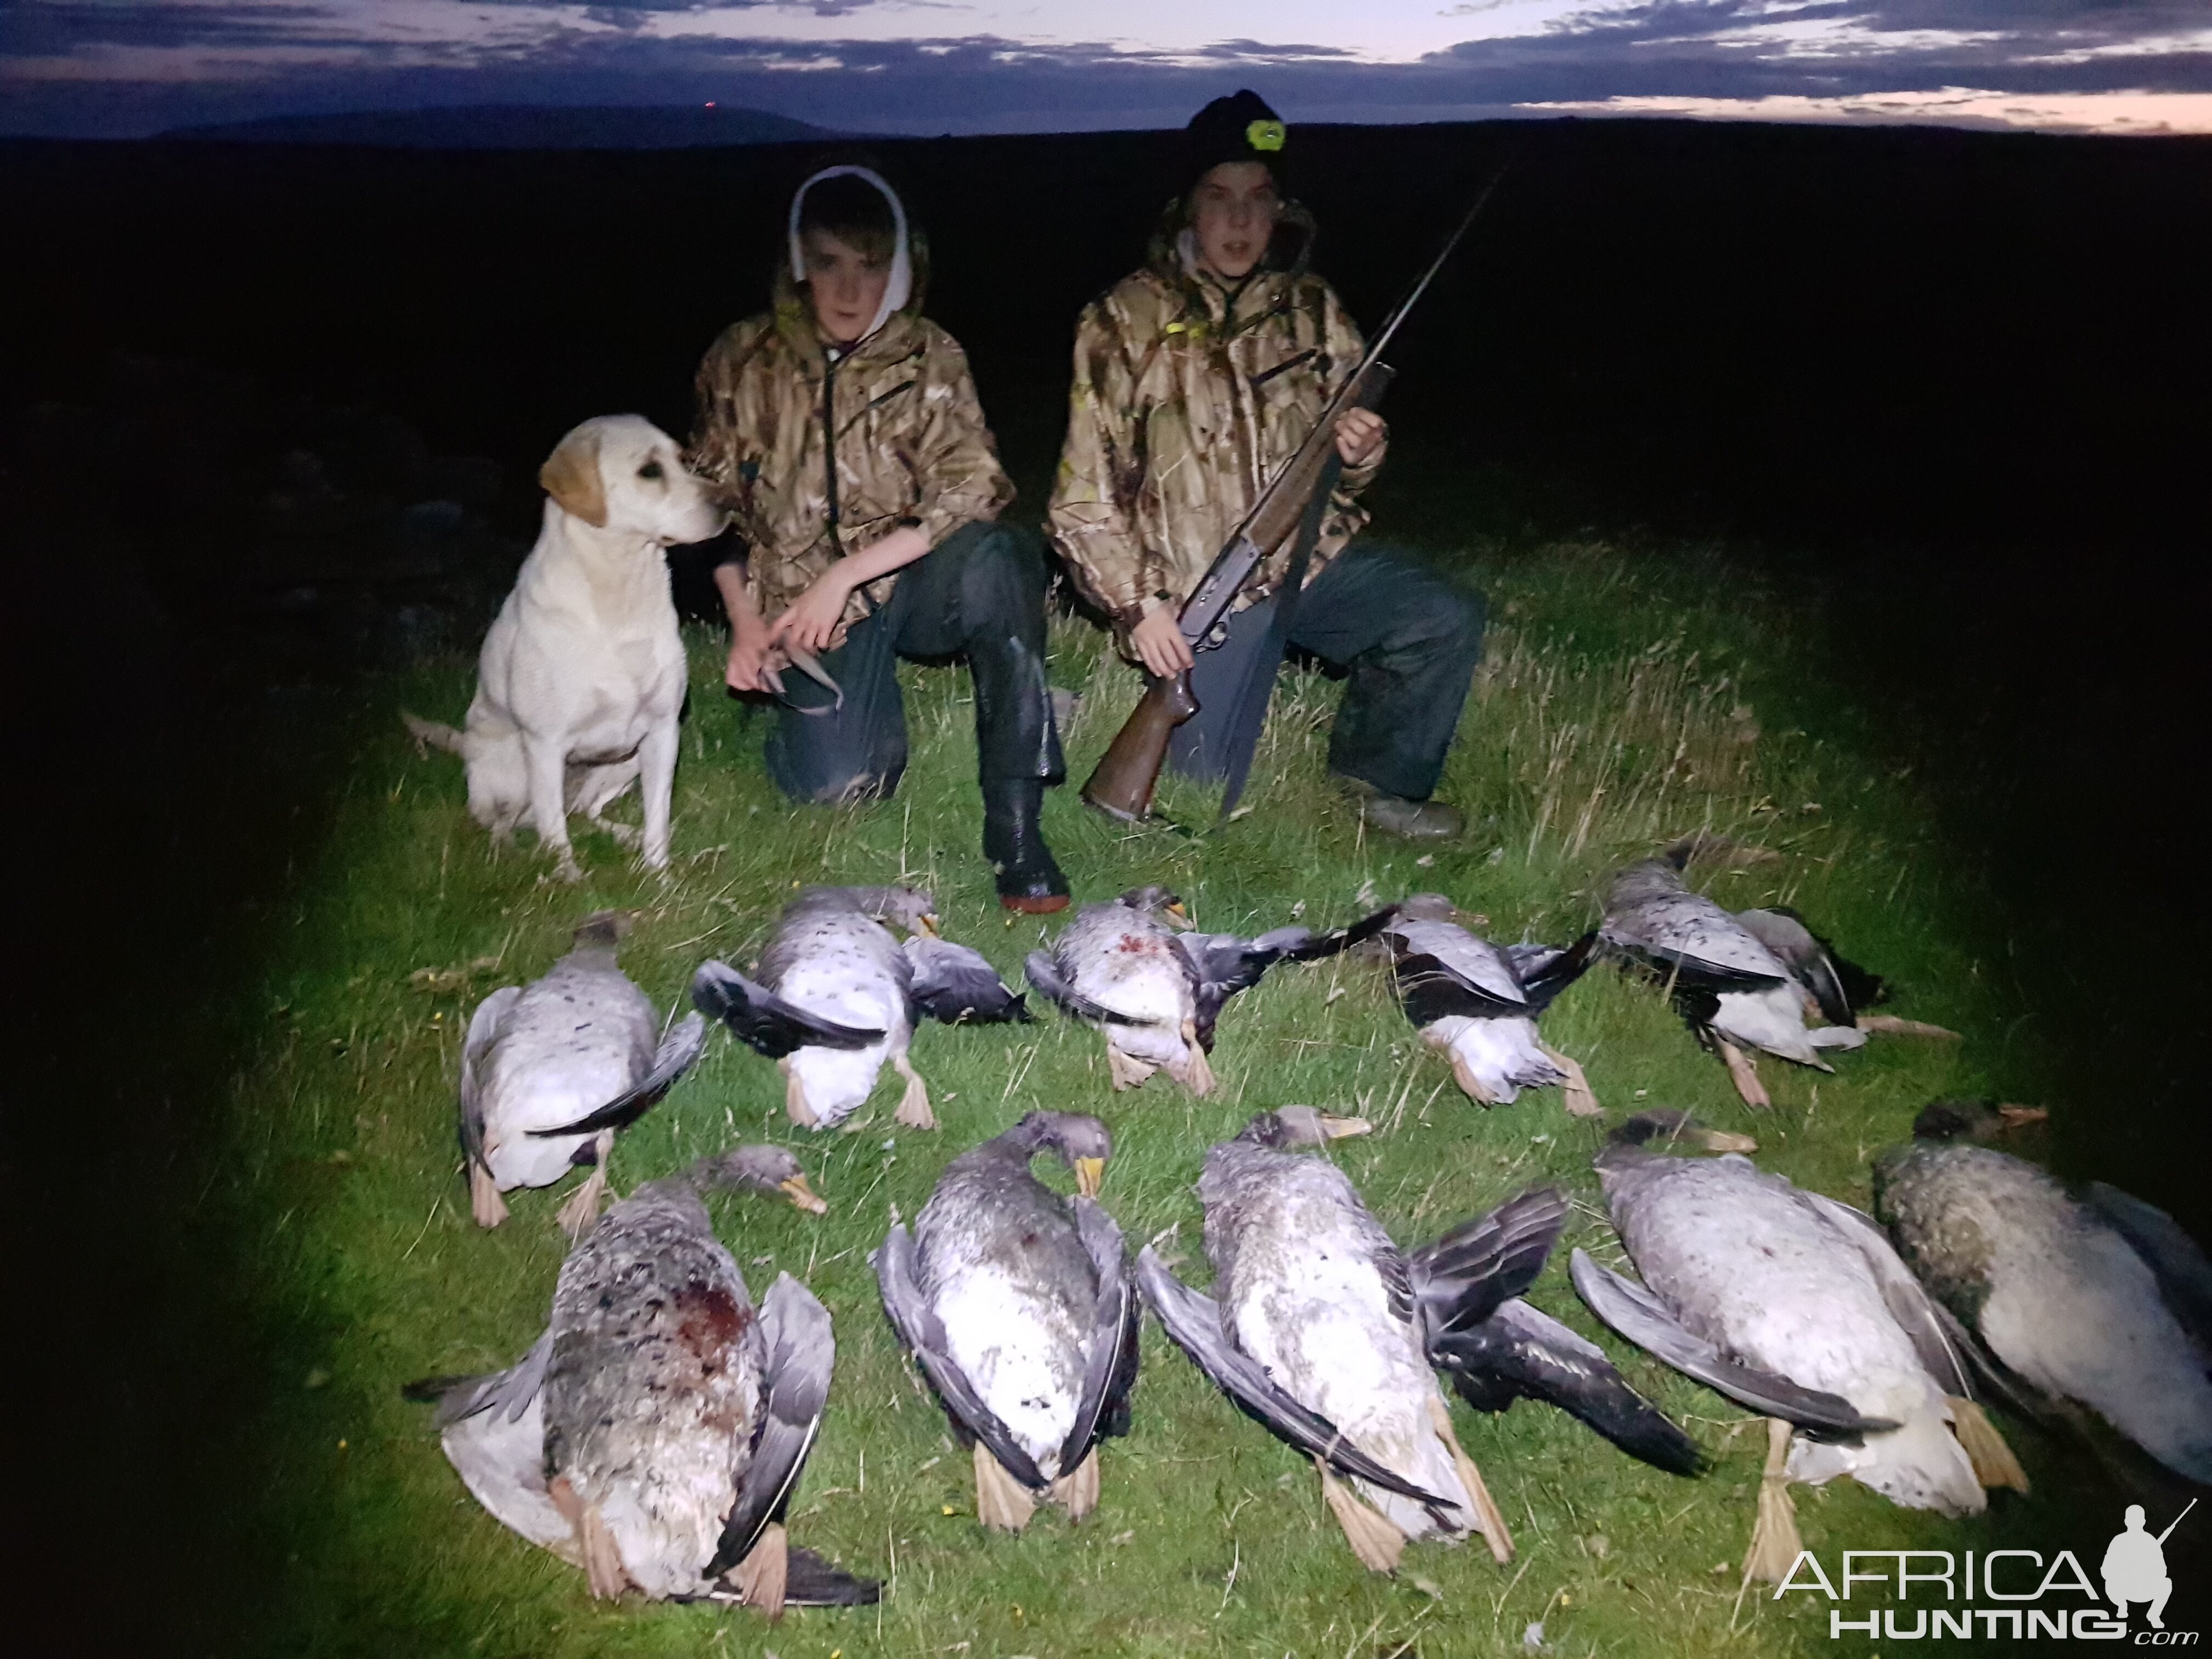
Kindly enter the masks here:
<path id="1" fill-rule="evenodd" d="M 1407 319 L 1407 312 L 1420 303 L 1420 296 L 1436 281 L 1436 272 L 1444 268 L 1451 259 L 1451 250 L 1460 246 L 1460 237 L 1467 228 L 1475 223 L 1475 215 L 1489 204 L 1491 192 L 1498 190 L 1498 179 L 1504 177 L 1504 168 L 1491 175 L 1491 181 L 1482 186 L 1482 195 L 1475 197 L 1475 206 L 1467 210 L 1460 219 L 1460 228 L 1451 232 L 1444 248 L 1429 261 L 1429 268 L 1413 283 L 1411 292 L 1398 307 L 1385 319 L 1383 327 L 1376 330 L 1374 341 L 1360 354 L 1358 367 L 1345 378 L 1336 389 L 1336 396 L 1321 411 L 1321 420 L 1298 445 L 1298 451 L 1283 462 L 1283 469 L 1267 480 L 1259 500 L 1252 502 L 1252 511 L 1245 513 L 1243 524 L 1230 535 L 1228 546 L 1214 555 L 1214 562 L 1206 566 L 1206 575 L 1199 577 L 1199 586 L 1183 602 L 1177 615 L 1177 628 L 1192 650 L 1210 650 L 1219 644 L 1217 630 L 1221 619 L 1228 615 L 1230 604 L 1243 591 L 1252 573 L 1265 564 L 1265 560 L 1292 535 L 1318 533 L 1318 513 L 1307 515 L 1307 504 L 1314 500 L 1316 491 L 1336 482 L 1336 416 L 1345 409 L 1374 409 L 1383 403 L 1383 394 L 1389 389 L 1394 369 L 1383 363 L 1383 347 L 1389 345 L 1398 325 Z M 1303 564 L 1294 560 L 1294 564 Z M 1152 812 L 1152 790 L 1159 787 L 1159 768 L 1168 759 L 1168 739 L 1175 728 L 1199 712 L 1199 699 L 1190 692 L 1190 672 L 1159 677 L 1146 675 L 1144 697 L 1137 708 L 1115 732 L 1113 743 L 1106 745 L 1106 754 L 1093 768 L 1091 779 L 1084 783 L 1082 796 L 1084 805 L 1097 807 L 1110 818 L 1121 818 L 1124 823 L 1137 823 Z"/>

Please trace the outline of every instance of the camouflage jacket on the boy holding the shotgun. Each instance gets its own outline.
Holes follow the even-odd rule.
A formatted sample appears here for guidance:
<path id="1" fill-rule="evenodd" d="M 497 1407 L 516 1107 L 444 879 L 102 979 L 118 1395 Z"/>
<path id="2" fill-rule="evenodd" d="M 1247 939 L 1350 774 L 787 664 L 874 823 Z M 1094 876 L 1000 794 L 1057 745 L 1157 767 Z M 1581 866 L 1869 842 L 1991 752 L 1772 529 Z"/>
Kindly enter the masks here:
<path id="1" fill-rule="evenodd" d="M 1263 268 L 1232 290 L 1194 272 L 1179 226 L 1170 217 L 1144 270 L 1093 301 L 1075 327 L 1068 438 L 1053 484 L 1053 540 L 1124 630 L 1199 584 L 1363 349 L 1336 292 L 1305 270 L 1303 246 L 1287 268 Z M 1290 208 L 1276 234 L 1310 243 L 1310 230 Z M 1358 493 L 1380 465 L 1376 456 L 1343 471 L 1310 577 L 1367 522 Z M 1237 608 L 1272 593 L 1287 564 L 1285 544 Z"/>

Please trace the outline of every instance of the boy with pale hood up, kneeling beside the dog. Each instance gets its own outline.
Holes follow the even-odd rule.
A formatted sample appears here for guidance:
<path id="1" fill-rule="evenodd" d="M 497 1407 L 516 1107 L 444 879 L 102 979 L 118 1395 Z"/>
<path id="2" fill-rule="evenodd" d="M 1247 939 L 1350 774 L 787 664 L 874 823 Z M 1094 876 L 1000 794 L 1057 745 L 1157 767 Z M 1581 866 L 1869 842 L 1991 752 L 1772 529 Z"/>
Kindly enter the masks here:
<path id="1" fill-rule="evenodd" d="M 958 341 L 920 314 L 927 246 L 891 186 L 823 168 L 792 197 L 774 310 L 699 363 L 690 462 L 730 507 L 714 571 L 728 684 L 781 699 L 768 770 L 794 801 L 887 796 L 907 765 L 898 657 L 975 677 L 984 856 L 1000 902 L 1055 911 L 1040 834 L 1062 779 L 1044 681 L 1044 557 L 998 524 L 998 462 Z M 823 677 L 779 672 L 818 659 Z"/>

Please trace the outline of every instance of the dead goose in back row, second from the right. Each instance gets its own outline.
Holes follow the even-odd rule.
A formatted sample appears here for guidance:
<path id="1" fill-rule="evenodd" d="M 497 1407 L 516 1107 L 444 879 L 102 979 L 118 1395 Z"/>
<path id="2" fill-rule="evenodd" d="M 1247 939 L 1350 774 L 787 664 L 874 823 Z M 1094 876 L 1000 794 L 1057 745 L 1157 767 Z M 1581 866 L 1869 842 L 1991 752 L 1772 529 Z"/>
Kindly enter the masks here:
<path id="1" fill-rule="evenodd" d="M 1451 1077 L 1482 1106 L 1509 1106 L 1522 1088 L 1559 1088 L 1566 1110 L 1597 1117 L 1582 1066 L 1546 1048 L 1535 1022 L 1590 964 L 1597 933 L 1573 945 L 1500 949 L 1462 925 L 1442 894 L 1413 894 L 1354 922 L 1345 942 L 1389 953 L 1398 1006 L 1420 1040 L 1451 1055 Z"/>

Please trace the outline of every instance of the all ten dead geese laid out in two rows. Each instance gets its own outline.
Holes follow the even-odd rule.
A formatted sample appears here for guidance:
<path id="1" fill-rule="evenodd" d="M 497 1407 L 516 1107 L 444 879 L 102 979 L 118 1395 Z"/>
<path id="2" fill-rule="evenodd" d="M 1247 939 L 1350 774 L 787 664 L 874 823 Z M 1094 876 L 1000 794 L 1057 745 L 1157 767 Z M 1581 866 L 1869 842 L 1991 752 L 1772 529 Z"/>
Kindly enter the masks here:
<path id="1" fill-rule="evenodd" d="M 1239 938 L 1188 925 L 1141 887 L 1075 914 L 1026 962 L 1029 984 L 1099 1031 L 1117 1091 L 1152 1073 L 1192 1095 L 1228 1002 L 1279 964 L 1356 956 L 1387 971 L 1405 1018 L 1482 1106 L 1557 1088 L 1601 1108 L 1540 1020 L 1597 960 L 1646 975 L 1765 1106 L 1756 1057 L 1829 1068 L 1869 1031 L 1880 982 L 1785 909 L 1730 914 L 1683 878 L 1694 845 L 1613 880 L 1604 922 L 1568 945 L 1493 945 L 1420 894 L 1316 933 Z M 754 973 L 706 962 L 695 1011 L 666 1026 L 617 964 L 622 918 L 595 916 L 524 987 L 493 991 L 460 1062 L 460 1144 L 476 1219 L 507 1190 L 586 1170 L 562 1208 L 575 1239 L 544 1336 L 511 1369 L 409 1387 L 467 1489 L 500 1522 L 580 1566 L 593 1595 L 785 1606 L 874 1601 L 876 1582 L 785 1537 L 832 1389 L 830 1310 L 779 1274 L 754 1301 L 701 1201 L 748 1190 L 821 1212 L 799 1159 L 739 1146 L 646 1181 L 602 1214 L 615 1137 L 701 1055 L 710 1022 L 776 1062 L 792 1124 L 827 1130 L 900 1082 L 898 1124 L 936 1126 L 911 1062 L 916 1022 L 1024 1022 L 1026 993 L 938 933 L 907 887 L 792 898 Z M 2212 1263 L 2124 1192 L 2073 1192 L 1993 1150 L 2024 1108 L 1942 1102 L 1874 1161 L 1874 1214 L 1761 1170 L 1750 1137 L 1644 1110 L 1597 1155 L 1597 1186 L 1635 1279 L 1584 1250 L 1571 1276 L 1617 1336 L 1767 1418 L 1745 1577 L 1796 1559 L 1790 1482 L 1851 1475 L 1891 1502 L 1971 1515 L 2026 1475 L 1984 1402 L 2037 1420 L 2101 1418 L 2143 1453 L 2212 1482 Z M 1197 1172 L 1208 1290 L 1152 1248 L 1130 1252 L 1102 1201 L 1104 1121 L 1031 1110 L 951 1161 L 874 1252 L 883 1314 L 973 1451 L 975 1515 L 1020 1531 L 1037 1504 L 1082 1520 L 1099 1451 L 1133 1429 L 1139 1325 L 1305 1455 L 1352 1553 L 1394 1573 L 1416 1540 L 1480 1535 L 1504 1509 L 1453 1431 L 1478 1411 L 1557 1407 L 1624 1453 L 1694 1478 L 1705 1453 L 1606 1354 L 1522 1296 L 1559 1239 L 1557 1188 L 1506 1197 L 1427 1241 L 1398 1241 L 1316 1150 L 1358 1117 L 1281 1106 Z M 1141 1119 L 1126 1126 L 1141 1135 Z M 1035 1175 L 1073 1177 L 1064 1197 Z"/>

